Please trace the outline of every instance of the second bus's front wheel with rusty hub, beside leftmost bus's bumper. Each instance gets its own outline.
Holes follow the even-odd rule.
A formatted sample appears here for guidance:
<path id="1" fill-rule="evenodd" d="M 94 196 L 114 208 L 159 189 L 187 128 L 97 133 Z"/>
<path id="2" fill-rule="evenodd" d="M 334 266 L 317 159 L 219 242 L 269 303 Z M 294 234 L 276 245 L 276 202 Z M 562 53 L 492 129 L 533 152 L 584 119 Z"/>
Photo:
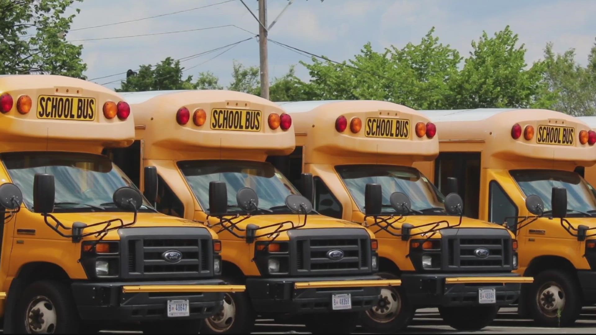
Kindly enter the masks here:
<path id="1" fill-rule="evenodd" d="M 234 280 L 225 280 L 237 283 Z M 206 318 L 201 326 L 203 334 L 249 334 L 254 327 L 256 314 L 246 292 L 224 293 L 221 311 Z"/>

